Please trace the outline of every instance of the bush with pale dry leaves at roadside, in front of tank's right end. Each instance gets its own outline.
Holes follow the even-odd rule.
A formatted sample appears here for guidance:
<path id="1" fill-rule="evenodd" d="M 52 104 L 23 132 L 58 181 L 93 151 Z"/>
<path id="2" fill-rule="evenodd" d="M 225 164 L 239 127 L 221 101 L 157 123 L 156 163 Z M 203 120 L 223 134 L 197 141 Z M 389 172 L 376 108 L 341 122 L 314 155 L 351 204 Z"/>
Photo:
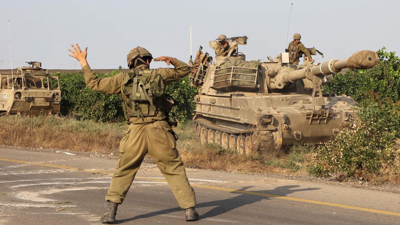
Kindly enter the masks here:
<path id="1" fill-rule="evenodd" d="M 398 136 L 399 110 L 398 103 L 364 103 L 357 112 L 354 129 L 341 131 L 318 147 L 310 163 L 310 172 L 324 177 L 335 173 L 346 176 L 379 174 L 379 169 L 391 165 L 400 155 L 391 148 Z"/>

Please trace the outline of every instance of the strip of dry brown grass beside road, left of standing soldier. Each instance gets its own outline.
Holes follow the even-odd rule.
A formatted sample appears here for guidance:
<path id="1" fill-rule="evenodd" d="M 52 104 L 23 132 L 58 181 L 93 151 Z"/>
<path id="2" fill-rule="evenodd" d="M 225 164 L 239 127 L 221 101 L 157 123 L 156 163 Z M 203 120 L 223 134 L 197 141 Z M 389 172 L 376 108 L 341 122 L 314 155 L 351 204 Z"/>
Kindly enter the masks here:
<path id="1" fill-rule="evenodd" d="M 109 153 L 119 146 L 126 125 L 77 121 L 56 116 L 2 116 L 2 145 Z"/>

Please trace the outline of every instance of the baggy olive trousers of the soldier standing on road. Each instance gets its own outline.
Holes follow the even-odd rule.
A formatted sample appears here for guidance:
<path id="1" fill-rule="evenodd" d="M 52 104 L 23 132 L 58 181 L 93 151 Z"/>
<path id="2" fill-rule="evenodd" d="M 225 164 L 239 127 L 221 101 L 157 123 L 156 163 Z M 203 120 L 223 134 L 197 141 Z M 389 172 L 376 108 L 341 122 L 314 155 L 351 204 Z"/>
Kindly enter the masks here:
<path id="1" fill-rule="evenodd" d="M 196 205 L 193 188 L 186 177 L 172 129 L 166 121 L 131 124 L 120 142 L 119 157 L 106 201 L 122 203 L 135 178 L 144 156 L 149 153 L 156 161 L 172 193 L 182 209 Z"/>

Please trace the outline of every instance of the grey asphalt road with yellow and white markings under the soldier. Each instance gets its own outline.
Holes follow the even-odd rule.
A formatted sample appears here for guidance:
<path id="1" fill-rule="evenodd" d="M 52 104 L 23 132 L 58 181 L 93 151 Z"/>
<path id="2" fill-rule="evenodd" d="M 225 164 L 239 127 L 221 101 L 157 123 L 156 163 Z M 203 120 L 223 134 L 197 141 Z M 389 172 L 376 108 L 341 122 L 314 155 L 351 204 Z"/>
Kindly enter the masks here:
<path id="1" fill-rule="evenodd" d="M 99 224 L 116 160 L 0 149 L 0 225 Z M 400 195 L 187 169 L 200 220 L 185 222 L 156 165 L 143 163 L 119 224 L 400 224 Z"/>

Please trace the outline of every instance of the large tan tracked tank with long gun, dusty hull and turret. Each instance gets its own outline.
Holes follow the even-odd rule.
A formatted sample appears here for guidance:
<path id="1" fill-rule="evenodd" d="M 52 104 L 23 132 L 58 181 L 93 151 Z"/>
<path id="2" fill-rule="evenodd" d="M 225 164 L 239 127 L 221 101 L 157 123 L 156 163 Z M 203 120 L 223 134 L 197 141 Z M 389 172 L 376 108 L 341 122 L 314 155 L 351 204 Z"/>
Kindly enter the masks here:
<path id="1" fill-rule="evenodd" d="M 230 41 L 236 50 L 238 43 Z M 304 65 L 289 64 L 287 52 L 268 57 L 270 62 L 248 62 L 236 51 L 214 63 L 201 50 L 190 61 L 191 85 L 199 87 L 194 98 L 196 135 L 202 143 L 218 143 L 242 154 L 277 157 L 283 146 L 328 141 L 352 127 L 357 102 L 344 94 L 322 93 L 321 87 L 343 68 L 378 65 L 376 52 L 366 50 L 346 60 L 305 60 Z"/>

